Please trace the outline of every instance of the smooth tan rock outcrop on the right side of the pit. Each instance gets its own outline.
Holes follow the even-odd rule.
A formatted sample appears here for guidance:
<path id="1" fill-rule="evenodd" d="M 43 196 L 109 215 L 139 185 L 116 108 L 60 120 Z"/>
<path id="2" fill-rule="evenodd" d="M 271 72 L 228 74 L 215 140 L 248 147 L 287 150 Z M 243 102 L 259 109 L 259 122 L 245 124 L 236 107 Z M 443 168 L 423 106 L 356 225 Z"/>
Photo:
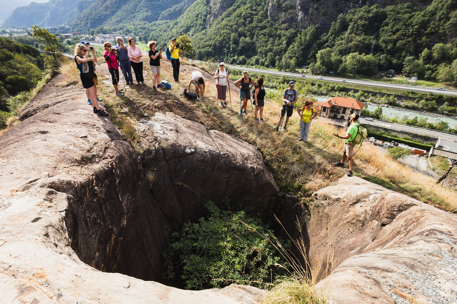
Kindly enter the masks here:
<path id="1" fill-rule="evenodd" d="M 457 216 L 355 176 L 313 197 L 308 256 L 330 299 L 457 303 Z"/>

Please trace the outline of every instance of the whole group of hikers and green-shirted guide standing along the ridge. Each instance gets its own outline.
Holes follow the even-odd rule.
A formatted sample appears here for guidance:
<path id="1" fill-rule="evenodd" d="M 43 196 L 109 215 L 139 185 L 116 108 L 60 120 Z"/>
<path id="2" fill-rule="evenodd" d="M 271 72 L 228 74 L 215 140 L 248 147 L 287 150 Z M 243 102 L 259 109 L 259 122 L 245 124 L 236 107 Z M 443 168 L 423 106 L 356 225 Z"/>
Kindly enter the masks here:
<path id="1" fill-rule="evenodd" d="M 119 90 L 119 67 L 121 68 L 123 79 L 127 82 L 127 85 L 133 85 L 132 69 L 135 74 L 135 80 L 137 85 L 145 85 L 143 78 L 143 52 L 139 46 L 135 45 L 133 38 L 128 39 L 129 46 L 126 47 L 123 44 L 121 37 L 116 38 L 117 45 L 112 47 L 110 42 L 105 42 L 103 47 L 105 52 L 103 57 L 108 65 L 109 72 L 112 77 L 112 85 L 117 96 L 122 96 L 123 93 Z M 162 59 L 162 48 L 156 49 L 156 41 L 149 41 L 147 46 L 149 47 L 149 67 L 153 75 L 153 90 L 157 90 L 157 87 L 170 88 L 170 84 L 167 82 L 160 82 L 160 59 Z M 92 52 L 92 54 L 90 54 Z M 175 82 L 179 82 L 179 68 L 181 65 L 180 56 L 183 54 L 179 43 L 176 42 L 176 38 L 171 39 L 170 45 L 165 51 L 166 57 L 171 62 L 173 67 L 173 78 Z M 95 50 L 90 46 L 88 41 L 81 41 L 76 44 L 74 48 L 74 61 L 80 72 L 80 79 L 85 88 L 87 95 L 87 103 L 93 106 L 93 111 L 99 116 L 107 116 L 108 113 L 100 108 L 98 102 L 101 101 L 97 97 L 96 86 L 98 84 L 96 75 L 97 57 Z M 230 94 L 230 81 L 228 70 L 225 67 L 224 62 L 219 63 L 218 70 L 214 73 L 214 78 L 217 88 L 217 103 L 220 103 L 221 107 L 226 107 L 227 103 L 227 89 L 229 92 L 230 106 L 231 106 L 231 94 Z M 195 92 L 191 92 L 191 85 L 194 85 Z M 234 82 L 234 85 L 240 89 L 240 110 L 239 115 L 247 115 L 248 99 L 251 103 L 252 112 L 254 113 L 255 123 L 265 123 L 263 119 L 264 109 L 264 98 L 266 91 L 264 88 L 263 77 L 258 77 L 256 81 L 249 77 L 247 71 L 243 72 L 243 77 L 239 78 Z M 194 71 L 191 73 L 191 77 L 186 89 L 183 90 L 183 94 L 192 100 L 201 99 L 205 101 L 205 87 L 206 82 L 201 72 Z M 254 90 L 252 90 L 254 88 Z M 252 100 L 251 99 L 252 90 Z M 294 104 L 298 102 L 298 91 L 295 89 L 295 82 L 291 81 L 288 83 L 288 88 L 284 89 L 282 93 L 282 110 L 279 120 L 276 123 L 276 131 L 278 133 L 283 130 L 287 132 L 287 124 L 290 117 L 293 114 Z M 300 117 L 300 131 L 298 141 L 304 143 L 308 140 L 308 133 L 311 126 L 311 122 L 319 116 L 320 108 L 313 107 L 314 101 L 311 99 L 304 100 L 303 107 L 297 109 L 298 116 Z M 255 110 L 254 110 L 255 106 Z M 284 121 L 285 118 L 285 121 Z M 351 125 L 348 127 L 345 136 L 339 135 L 338 133 L 332 133 L 336 137 L 345 139 L 343 157 L 340 162 L 335 163 L 335 166 L 344 166 L 345 160 L 349 160 L 349 171 L 348 176 L 352 176 L 353 166 L 353 150 L 356 144 L 361 144 L 363 139 L 366 138 L 367 132 L 358 123 L 359 114 L 353 113 L 351 115 Z M 360 148 L 359 148 L 360 149 Z"/>

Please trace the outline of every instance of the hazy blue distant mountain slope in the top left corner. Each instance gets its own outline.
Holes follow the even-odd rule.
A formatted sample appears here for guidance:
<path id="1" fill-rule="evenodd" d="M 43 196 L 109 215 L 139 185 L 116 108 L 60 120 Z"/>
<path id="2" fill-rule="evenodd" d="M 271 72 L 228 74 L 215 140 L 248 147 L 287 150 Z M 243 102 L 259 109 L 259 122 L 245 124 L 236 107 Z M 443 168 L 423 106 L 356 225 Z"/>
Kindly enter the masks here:
<path id="1" fill-rule="evenodd" d="M 32 2 L 16 8 L 3 23 L 4 26 L 58 26 L 68 24 L 76 16 L 78 0 L 50 0 Z"/>

